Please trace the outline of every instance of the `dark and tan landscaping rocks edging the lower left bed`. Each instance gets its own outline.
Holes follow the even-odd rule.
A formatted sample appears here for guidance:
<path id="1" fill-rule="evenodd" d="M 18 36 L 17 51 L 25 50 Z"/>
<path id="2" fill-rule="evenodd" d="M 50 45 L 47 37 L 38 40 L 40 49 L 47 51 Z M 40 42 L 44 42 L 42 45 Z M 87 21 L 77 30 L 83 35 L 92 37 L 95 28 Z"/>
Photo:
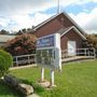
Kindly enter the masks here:
<path id="1" fill-rule="evenodd" d="M 6 84 L 14 87 L 26 96 L 33 93 L 33 87 L 31 85 L 22 83 L 17 78 L 13 75 L 5 75 L 3 80 Z"/>

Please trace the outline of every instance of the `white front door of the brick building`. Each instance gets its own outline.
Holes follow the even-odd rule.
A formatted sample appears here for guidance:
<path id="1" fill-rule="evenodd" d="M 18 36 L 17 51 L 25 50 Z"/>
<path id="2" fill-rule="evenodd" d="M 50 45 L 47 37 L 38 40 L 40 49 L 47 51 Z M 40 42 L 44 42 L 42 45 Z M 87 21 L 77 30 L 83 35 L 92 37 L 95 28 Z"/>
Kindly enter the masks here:
<path id="1" fill-rule="evenodd" d="M 68 56 L 75 56 L 77 42 L 68 41 Z"/>

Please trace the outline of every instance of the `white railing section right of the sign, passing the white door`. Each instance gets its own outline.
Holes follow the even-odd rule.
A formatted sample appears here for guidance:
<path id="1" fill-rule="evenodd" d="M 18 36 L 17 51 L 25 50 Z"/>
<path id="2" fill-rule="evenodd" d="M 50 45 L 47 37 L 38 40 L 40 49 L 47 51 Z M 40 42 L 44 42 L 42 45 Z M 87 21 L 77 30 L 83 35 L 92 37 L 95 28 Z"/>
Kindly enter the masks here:
<path id="1" fill-rule="evenodd" d="M 73 55 L 71 55 L 71 56 L 73 56 Z M 61 51 L 61 58 L 68 58 L 71 56 L 68 54 L 68 50 Z M 94 47 L 92 47 L 92 48 L 77 48 L 74 56 L 92 56 L 95 58 L 96 57 L 96 51 Z"/>

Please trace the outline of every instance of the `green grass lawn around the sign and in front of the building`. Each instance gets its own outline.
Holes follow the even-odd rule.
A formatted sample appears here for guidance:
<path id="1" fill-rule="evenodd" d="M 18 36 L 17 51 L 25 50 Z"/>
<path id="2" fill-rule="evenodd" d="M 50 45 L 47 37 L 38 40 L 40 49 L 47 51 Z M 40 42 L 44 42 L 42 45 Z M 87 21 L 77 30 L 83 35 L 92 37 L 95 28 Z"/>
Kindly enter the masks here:
<path id="1" fill-rule="evenodd" d="M 97 60 L 63 65 L 63 71 L 55 72 L 57 87 L 53 89 L 43 89 L 36 84 L 40 80 L 40 68 L 12 70 L 11 73 L 25 82 L 33 83 L 36 93 L 41 97 L 97 97 Z M 48 80 L 50 70 L 45 73 Z M 22 96 L 0 82 L 0 97 Z"/>

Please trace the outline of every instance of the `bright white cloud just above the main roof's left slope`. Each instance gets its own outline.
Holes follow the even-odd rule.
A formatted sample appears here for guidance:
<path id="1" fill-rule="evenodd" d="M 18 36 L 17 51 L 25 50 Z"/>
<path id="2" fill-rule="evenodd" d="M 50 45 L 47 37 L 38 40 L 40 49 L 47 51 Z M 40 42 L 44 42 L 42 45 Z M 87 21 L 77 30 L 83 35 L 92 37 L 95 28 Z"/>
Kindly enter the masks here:
<path id="1" fill-rule="evenodd" d="M 29 15 L 14 15 L 12 16 L 12 19 L 16 25 L 12 27 L 12 30 L 18 30 L 23 28 L 31 28 L 32 26 L 36 26 L 43 20 L 51 17 L 51 15 L 43 14 L 43 13 L 36 13 L 32 17 Z"/>

